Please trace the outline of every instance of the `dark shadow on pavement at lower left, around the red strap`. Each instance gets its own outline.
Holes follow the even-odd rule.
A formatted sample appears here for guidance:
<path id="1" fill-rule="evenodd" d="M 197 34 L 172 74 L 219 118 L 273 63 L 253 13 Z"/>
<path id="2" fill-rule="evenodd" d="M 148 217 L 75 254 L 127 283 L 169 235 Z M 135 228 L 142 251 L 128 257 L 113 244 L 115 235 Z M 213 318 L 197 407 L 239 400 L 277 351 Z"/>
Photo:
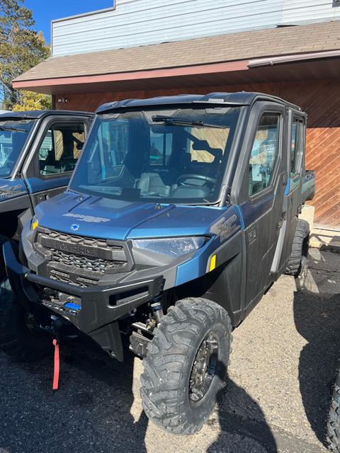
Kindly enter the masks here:
<path id="1" fill-rule="evenodd" d="M 61 356 L 56 392 L 52 357 L 18 363 L 0 356 L 0 452 L 146 452 L 147 417 L 130 413 L 132 357 L 120 371 L 120 364 L 87 342 L 64 346 Z"/>

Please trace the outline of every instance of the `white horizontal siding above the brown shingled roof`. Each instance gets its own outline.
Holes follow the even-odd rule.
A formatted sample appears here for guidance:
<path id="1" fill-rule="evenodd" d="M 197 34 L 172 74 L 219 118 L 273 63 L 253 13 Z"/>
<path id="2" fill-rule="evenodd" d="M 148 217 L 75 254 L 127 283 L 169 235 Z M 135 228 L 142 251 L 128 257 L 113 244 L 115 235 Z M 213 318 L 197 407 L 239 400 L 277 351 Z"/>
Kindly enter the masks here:
<path id="1" fill-rule="evenodd" d="M 339 18 L 340 7 L 333 6 L 331 0 L 117 0 L 115 10 L 52 21 L 52 55 Z"/>

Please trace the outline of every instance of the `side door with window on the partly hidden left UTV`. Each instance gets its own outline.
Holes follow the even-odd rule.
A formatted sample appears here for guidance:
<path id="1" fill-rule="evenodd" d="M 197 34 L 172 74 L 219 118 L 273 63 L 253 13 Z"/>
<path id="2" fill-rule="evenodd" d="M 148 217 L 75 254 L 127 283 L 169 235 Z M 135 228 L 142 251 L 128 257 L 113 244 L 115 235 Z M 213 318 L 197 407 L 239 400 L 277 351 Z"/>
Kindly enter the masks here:
<path id="1" fill-rule="evenodd" d="M 85 117 L 54 117 L 45 121 L 24 170 L 33 205 L 65 190 L 88 130 L 89 121 Z"/>

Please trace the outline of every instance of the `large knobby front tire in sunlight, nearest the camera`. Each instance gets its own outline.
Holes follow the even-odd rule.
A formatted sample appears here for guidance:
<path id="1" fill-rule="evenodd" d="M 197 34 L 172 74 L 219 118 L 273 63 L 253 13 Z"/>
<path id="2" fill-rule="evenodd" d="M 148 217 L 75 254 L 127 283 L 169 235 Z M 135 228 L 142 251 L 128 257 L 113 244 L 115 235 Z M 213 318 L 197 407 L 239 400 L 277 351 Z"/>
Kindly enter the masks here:
<path id="1" fill-rule="evenodd" d="M 180 435 L 202 428 L 225 384 L 231 332 L 227 311 L 207 299 L 183 299 L 162 317 L 141 377 L 142 406 L 150 420 Z"/>

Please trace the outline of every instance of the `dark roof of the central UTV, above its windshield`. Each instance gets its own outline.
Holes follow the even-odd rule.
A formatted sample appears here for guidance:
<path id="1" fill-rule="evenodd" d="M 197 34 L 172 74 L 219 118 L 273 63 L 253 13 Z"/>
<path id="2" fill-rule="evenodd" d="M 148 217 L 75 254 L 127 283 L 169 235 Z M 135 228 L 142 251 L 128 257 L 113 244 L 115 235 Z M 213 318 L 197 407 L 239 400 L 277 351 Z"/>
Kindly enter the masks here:
<path id="1" fill-rule="evenodd" d="M 227 104 L 227 105 L 251 105 L 254 101 L 273 101 L 282 105 L 287 105 L 295 110 L 301 110 L 295 104 L 284 101 L 276 96 L 271 96 L 264 93 L 251 93 L 247 91 L 239 91 L 237 93 L 209 93 L 209 94 L 181 94 L 178 96 L 159 96 L 157 98 L 147 99 L 126 99 L 125 101 L 115 101 L 106 103 L 97 108 L 96 113 L 108 113 L 114 110 L 129 109 L 129 108 L 147 108 L 157 105 L 183 105 L 183 104 Z"/>

